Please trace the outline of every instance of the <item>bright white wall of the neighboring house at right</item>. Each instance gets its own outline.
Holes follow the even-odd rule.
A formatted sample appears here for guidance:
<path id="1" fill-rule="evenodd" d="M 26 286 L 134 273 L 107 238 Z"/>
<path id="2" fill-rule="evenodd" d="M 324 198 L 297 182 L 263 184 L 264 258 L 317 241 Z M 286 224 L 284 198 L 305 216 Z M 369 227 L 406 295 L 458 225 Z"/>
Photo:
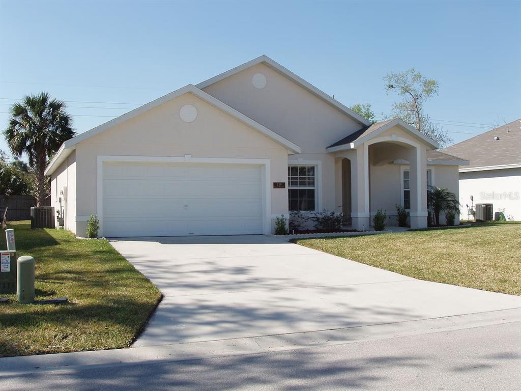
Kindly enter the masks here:
<path id="1" fill-rule="evenodd" d="M 460 173 L 461 218 L 467 219 L 470 196 L 477 203 L 493 204 L 494 213 L 504 209 L 505 217 L 521 221 L 521 168 Z"/>

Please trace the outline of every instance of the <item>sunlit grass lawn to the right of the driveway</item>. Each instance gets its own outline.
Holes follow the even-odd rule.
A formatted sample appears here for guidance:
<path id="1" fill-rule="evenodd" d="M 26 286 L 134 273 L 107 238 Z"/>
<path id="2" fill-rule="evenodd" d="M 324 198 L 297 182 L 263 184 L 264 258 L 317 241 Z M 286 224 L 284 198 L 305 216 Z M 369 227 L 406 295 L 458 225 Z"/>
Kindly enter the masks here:
<path id="1" fill-rule="evenodd" d="M 519 223 L 295 242 L 414 278 L 521 295 Z"/>

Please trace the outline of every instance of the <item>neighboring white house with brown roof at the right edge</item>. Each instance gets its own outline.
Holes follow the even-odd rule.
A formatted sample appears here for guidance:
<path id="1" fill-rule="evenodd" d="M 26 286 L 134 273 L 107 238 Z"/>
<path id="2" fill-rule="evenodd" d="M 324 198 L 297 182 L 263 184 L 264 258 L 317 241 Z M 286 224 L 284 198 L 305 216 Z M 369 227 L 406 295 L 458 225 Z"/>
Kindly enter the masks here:
<path id="1" fill-rule="evenodd" d="M 470 161 L 460 167 L 462 218 L 477 203 L 493 204 L 494 212 L 521 220 L 521 119 L 445 148 L 443 152 Z M 473 198 L 473 200 L 470 199 Z"/>

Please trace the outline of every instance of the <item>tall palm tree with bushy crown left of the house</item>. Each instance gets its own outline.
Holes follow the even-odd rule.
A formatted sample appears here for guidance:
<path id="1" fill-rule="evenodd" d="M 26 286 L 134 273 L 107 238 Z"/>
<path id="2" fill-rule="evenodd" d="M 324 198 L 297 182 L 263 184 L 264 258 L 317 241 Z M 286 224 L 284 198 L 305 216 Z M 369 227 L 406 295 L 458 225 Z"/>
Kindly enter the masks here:
<path id="1" fill-rule="evenodd" d="M 36 203 L 43 205 L 48 192 L 45 167 L 61 143 L 76 136 L 72 117 L 65 111 L 65 103 L 47 92 L 26 95 L 10 107 L 9 115 L 9 126 L 4 130 L 7 145 L 14 156 L 27 154 L 35 176 Z"/>

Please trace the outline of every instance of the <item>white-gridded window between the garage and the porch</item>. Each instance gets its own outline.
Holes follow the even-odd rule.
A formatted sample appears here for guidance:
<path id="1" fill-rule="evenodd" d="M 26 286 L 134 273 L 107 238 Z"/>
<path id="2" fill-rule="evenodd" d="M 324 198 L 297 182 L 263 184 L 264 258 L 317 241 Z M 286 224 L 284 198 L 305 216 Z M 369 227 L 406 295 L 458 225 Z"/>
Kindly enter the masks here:
<path id="1" fill-rule="evenodd" d="M 288 167 L 290 211 L 316 210 L 316 166 Z"/>

